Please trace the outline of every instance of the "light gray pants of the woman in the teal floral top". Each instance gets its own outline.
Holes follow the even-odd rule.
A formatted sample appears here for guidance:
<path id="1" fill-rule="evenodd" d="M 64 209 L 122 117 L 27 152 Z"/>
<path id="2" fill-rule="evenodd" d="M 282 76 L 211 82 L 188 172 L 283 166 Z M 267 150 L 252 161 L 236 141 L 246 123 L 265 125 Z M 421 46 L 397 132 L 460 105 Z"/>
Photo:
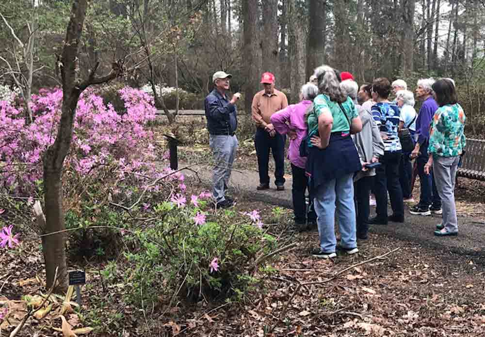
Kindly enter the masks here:
<path id="1" fill-rule="evenodd" d="M 433 156 L 433 173 L 435 176 L 436 189 L 441 198 L 443 208 L 443 222 L 445 229 L 449 232 L 458 231 L 458 220 L 456 219 L 456 205 L 454 201 L 454 186 L 456 180 L 456 169 L 460 156 L 440 157 Z"/>

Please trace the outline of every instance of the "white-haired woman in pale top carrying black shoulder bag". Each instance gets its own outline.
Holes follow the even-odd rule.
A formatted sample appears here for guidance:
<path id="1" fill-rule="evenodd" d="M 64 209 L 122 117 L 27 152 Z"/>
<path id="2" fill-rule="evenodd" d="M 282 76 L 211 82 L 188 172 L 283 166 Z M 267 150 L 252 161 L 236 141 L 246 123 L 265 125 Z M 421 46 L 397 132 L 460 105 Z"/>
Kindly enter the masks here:
<path id="1" fill-rule="evenodd" d="M 414 109 L 414 94 L 408 90 L 396 92 L 396 103 L 401 108 L 399 115 L 399 131 L 405 128 L 414 139 L 416 133 L 416 119 L 418 114 Z M 410 152 L 403 152 L 401 163 L 399 164 L 399 183 L 403 190 L 404 202 L 415 202 L 412 195 L 411 181 L 413 179 L 413 166 L 409 158 Z"/>

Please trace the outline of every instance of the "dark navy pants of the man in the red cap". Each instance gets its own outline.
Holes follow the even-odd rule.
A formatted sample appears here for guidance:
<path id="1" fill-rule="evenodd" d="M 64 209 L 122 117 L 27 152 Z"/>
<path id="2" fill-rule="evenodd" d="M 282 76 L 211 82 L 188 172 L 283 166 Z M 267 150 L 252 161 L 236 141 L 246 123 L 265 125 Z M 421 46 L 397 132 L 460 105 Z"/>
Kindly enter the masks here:
<path id="1" fill-rule="evenodd" d="M 285 141 L 286 136 L 276 132 L 275 137 L 262 128 L 256 129 L 254 145 L 258 156 L 259 183 L 269 184 L 270 176 L 268 175 L 268 163 L 270 160 L 270 149 L 275 159 L 275 183 L 277 185 L 285 184 Z"/>

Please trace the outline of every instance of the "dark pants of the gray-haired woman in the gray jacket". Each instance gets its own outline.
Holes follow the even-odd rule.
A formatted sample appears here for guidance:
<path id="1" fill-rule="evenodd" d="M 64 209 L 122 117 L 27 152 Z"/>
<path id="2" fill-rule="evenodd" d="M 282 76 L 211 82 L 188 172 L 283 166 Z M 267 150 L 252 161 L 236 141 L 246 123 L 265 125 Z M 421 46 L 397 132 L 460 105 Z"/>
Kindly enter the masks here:
<path id="1" fill-rule="evenodd" d="M 371 193 L 372 177 L 362 177 L 354 183 L 354 198 L 356 200 L 357 237 L 366 237 L 369 230 L 369 195 Z"/>

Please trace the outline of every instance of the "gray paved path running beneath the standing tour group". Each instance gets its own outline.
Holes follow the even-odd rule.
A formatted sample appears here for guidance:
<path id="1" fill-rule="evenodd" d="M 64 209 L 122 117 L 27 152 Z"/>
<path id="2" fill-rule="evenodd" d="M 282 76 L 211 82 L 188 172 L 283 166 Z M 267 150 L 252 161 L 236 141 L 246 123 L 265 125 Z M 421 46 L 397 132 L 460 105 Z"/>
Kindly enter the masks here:
<path id="1" fill-rule="evenodd" d="M 181 166 L 180 166 L 181 168 Z M 200 178 L 204 183 L 210 184 L 210 169 L 198 168 Z M 187 172 L 189 175 L 190 173 Z M 235 189 L 235 196 L 239 199 L 249 198 L 266 202 L 272 205 L 292 208 L 291 203 L 291 176 L 287 178 L 284 191 L 276 191 L 275 186 L 270 190 L 258 191 L 258 172 L 233 171 L 230 185 Z M 390 213 L 389 213 L 390 214 Z M 406 209 L 405 223 L 390 222 L 387 226 L 374 225 L 371 233 L 391 235 L 398 239 L 416 242 L 422 246 L 443 249 L 452 253 L 474 256 L 485 256 L 485 221 L 466 217 L 458 217 L 459 235 L 455 237 L 436 237 L 433 230 L 440 222 L 441 215 L 420 216 L 412 215 Z"/>

